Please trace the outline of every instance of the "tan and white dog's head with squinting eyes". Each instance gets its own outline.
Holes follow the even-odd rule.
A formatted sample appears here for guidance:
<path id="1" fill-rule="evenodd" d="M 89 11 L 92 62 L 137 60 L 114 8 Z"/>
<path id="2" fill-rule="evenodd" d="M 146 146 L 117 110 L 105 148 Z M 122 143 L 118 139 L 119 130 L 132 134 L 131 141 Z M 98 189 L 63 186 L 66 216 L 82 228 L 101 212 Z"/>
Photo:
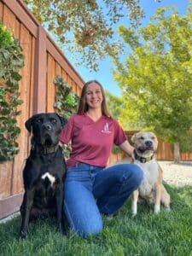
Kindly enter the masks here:
<path id="1" fill-rule="evenodd" d="M 140 131 L 131 137 L 133 147 L 136 148 L 137 154 L 143 157 L 150 157 L 157 150 L 157 137 L 153 132 Z"/>

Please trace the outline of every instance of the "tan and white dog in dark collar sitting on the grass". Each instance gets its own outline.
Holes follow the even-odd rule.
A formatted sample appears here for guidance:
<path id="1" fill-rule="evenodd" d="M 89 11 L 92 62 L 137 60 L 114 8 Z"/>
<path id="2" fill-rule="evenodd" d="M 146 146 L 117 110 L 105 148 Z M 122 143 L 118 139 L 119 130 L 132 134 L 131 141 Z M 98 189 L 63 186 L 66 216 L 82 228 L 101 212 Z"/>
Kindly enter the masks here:
<path id="1" fill-rule="evenodd" d="M 134 162 L 143 169 L 143 182 L 139 189 L 132 195 L 132 214 L 137 214 L 138 195 L 154 202 L 154 212 L 160 212 L 160 202 L 165 205 L 166 210 L 170 210 L 170 195 L 162 184 L 162 169 L 155 160 L 154 153 L 157 149 L 158 141 L 153 132 L 137 132 L 131 137 L 135 148 Z"/>

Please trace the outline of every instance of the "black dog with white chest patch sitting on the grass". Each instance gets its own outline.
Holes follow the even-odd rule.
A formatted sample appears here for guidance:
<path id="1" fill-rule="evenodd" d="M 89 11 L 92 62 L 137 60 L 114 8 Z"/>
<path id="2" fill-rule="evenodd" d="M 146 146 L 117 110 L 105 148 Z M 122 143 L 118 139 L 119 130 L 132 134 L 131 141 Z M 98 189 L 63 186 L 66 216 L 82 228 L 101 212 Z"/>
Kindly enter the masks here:
<path id="1" fill-rule="evenodd" d="M 29 221 L 36 218 L 56 216 L 57 229 L 65 233 L 62 204 L 66 163 L 58 143 L 66 123 L 57 113 L 38 113 L 26 121 L 26 129 L 32 131 L 32 148 L 23 171 L 20 238 L 26 237 Z"/>

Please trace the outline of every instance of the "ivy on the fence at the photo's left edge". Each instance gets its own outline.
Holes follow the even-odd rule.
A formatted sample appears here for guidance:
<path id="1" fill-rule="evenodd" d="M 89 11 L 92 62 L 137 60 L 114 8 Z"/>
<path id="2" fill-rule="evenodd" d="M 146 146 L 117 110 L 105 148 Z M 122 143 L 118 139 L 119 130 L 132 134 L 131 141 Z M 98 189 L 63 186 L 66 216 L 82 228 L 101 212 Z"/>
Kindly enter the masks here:
<path id="1" fill-rule="evenodd" d="M 19 99 L 19 74 L 24 55 L 17 39 L 0 23 L 0 163 L 14 158 L 19 151 L 16 142 L 20 134 L 16 117 Z"/>

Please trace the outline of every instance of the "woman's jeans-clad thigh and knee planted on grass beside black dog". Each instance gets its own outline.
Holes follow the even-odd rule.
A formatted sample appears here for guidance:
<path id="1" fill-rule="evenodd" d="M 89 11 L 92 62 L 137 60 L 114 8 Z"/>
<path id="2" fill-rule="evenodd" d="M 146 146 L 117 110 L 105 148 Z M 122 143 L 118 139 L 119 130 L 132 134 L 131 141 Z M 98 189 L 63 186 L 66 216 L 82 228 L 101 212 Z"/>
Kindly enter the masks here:
<path id="1" fill-rule="evenodd" d="M 102 216 L 92 192 L 84 183 L 65 183 L 64 212 L 70 228 L 79 236 L 97 235 L 102 231 Z"/>

